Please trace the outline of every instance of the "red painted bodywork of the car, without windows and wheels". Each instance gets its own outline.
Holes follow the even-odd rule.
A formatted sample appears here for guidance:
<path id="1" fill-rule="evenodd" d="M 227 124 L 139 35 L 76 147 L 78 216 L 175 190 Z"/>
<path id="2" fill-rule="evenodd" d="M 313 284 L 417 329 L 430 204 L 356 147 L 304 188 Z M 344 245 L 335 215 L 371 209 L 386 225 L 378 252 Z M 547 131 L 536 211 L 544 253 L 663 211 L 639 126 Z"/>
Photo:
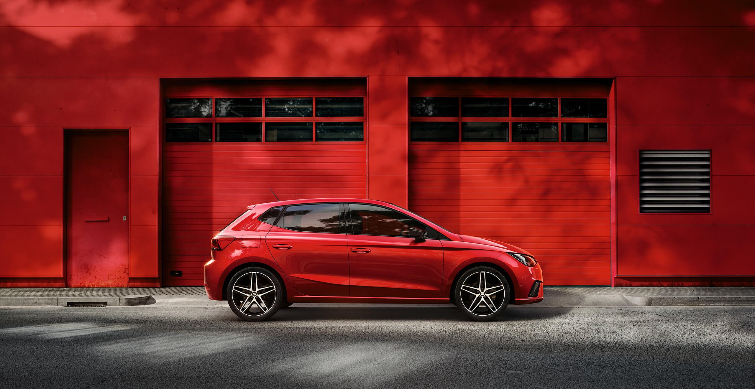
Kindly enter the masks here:
<path id="1" fill-rule="evenodd" d="M 376 204 L 406 213 L 441 231 L 449 240 L 427 239 L 424 244 L 413 245 L 411 242 L 414 239 L 410 237 L 291 231 L 257 220 L 266 210 L 282 205 L 349 202 Z M 252 233 L 266 235 L 267 246 L 242 247 L 242 237 Z M 501 268 L 510 277 L 515 304 L 540 302 L 543 298 L 542 289 L 537 297 L 527 297 L 532 283 L 543 280 L 540 265 L 530 268 L 505 254 L 528 253 L 527 251 L 508 244 L 453 234 L 415 213 L 407 213 L 382 201 L 317 198 L 257 204 L 245 217 L 223 228 L 217 235 L 236 239 L 223 250 L 212 250 L 211 258 L 214 261 L 204 266 L 205 288 L 210 299 L 214 300 L 223 299 L 223 290 L 234 271 L 252 264 L 272 268 L 281 276 L 286 286 L 288 302 L 442 304 L 448 302 L 451 285 L 457 274 L 471 265 L 479 264 Z M 341 238 L 331 237 L 336 235 Z M 399 243 L 399 240 L 403 242 Z M 281 256 L 276 251 L 278 249 L 275 244 L 290 245 L 291 248 L 280 251 L 297 257 L 291 260 Z M 355 247 L 370 251 L 355 253 L 350 250 Z M 427 253 L 418 253 L 419 250 L 427 250 Z M 338 251 L 347 256 L 347 262 L 340 260 Z M 307 258 L 312 260 L 307 261 Z M 325 260 L 327 258 L 336 260 L 328 262 Z M 411 258 L 411 261 L 399 261 L 397 258 Z M 412 266 L 417 259 L 418 265 Z M 291 274 L 288 270 L 295 271 L 296 274 Z M 344 273 L 344 270 L 347 272 Z M 306 289 L 300 289 L 302 287 Z M 333 291 L 337 294 L 330 294 Z"/>

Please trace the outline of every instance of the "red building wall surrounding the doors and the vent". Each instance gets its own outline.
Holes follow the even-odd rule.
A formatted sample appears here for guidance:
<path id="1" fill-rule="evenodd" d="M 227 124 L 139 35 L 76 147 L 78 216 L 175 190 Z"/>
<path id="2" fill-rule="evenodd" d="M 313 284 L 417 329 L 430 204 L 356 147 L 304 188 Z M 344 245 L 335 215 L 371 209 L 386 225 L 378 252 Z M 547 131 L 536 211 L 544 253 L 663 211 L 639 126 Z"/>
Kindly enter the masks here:
<path id="1" fill-rule="evenodd" d="M 663 254 L 652 270 L 753 274 L 706 265 L 713 247 L 736 264 L 755 249 L 734 239 L 753 223 L 752 47 L 744 0 L 2 2 L 0 285 L 60 285 L 63 130 L 97 127 L 129 130 L 132 274 L 156 281 L 160 79 L 226 77 L 366 77 L 368 196 L 402 206 L 410 76 L 615 78 L 613 271 L 651 271 Z M 710 217 L 632 214 L 633 150 L 672 142 L 713 148 Z"/>

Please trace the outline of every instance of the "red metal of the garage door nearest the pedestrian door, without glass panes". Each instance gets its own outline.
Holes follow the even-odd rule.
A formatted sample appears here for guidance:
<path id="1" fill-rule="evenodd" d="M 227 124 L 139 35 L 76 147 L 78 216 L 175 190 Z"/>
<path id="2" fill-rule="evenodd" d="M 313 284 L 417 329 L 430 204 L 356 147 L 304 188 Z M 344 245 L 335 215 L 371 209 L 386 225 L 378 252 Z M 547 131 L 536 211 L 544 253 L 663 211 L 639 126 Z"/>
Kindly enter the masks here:
<path id="1" fill-rule="evenodd" d="M 315 134 L 316 123 L 321 121 L 348 122 L 352 123 L 352 127 L 361 122 L 364 126 L 365 112 L 348 118 L 328 118 L 314 116 L 318 115 L 314 107 L 314 112 L 304 112 L 305 116 L 298 113 L 295 115 L 300 116 L 266 118 L 261 117 L 260 113 L 260 117 L 253 118 L 217 118 L 217 115 L 220 115 L 217 112 L 217 100 L 228 97 L 265 100 L 280 97 L 316 99 L 331 96 L 351 97 L 349 101 L 353 102 L 356 101 L 353 98 L 363 99 L 365 96 L 363 79 L 227 82 L 224 84 L 179 83 L 166 86 L 165 96 L 170 99 L 214 99 L 214 113 L 209 118 L 168 118 L 169 112 L 166 113 L 165 127 L 176 129 L 174 131 L 183 130 L 186 122 L 197 121 L 214 124 L 231 121 L 261 122 L 263 124 L 260 127 L 267 126 L 268 122 L 274 124 L 308 123 L 312 128 L 313 138 L 316 135 L 319 141 L 312 139 L 304 142 L 280 141 L 280 139 L 293 139 L 295 136 L 291 136 L 291 133 L 297 131 L 295 128 L 293 132 L 288 131 L 288 135 L 279 130 L 277 133 L 279 138 L 276 139 L 273 138 L 276 135 L 272 132 L 273 130 L 261 127 L 265 133 L 263 139 L 265 141 L 255 142 L 219 141 L 227 134 L 240 136 L 237 140 L 244 137 L 248 139 L 248 133 L 243 130 L 234 130 L 224 135 L 218 134 L 217 128 L 214 128 L 216 131 L 211 134 L 211 142 L 172 142 L 171 139 L 176 139 L 177 134 L 166 132 L 166 141 L 162 151 L 162 280 L 164 285 L 202 285 L 202 266 L 209 259 L 211 237 L 239 216 L 248 204 L 275 201 L 270 188 L 273 188 L 281 200 L 340 196 L 366 197 L 367 152 L 364 136 L 362 135 L 362 140 L 347 137 L 347 141 L 333 141 L 331 138 L 322 140 L 322 136 L 328 136 L 327 131 L 319 131 Z M 190 100 L 172 100 L 166 102 L 166 105 L 175 102 L 179 102 L 180 105 L 186 101 L 192 103 Z M 315 101 L 331 100 L 313 100 L 313 105 Z M 302 105 L 301 100 L 297 100 L 294 105 L 297 106 L 295 109 L 305 106 L 306 111 L 306 104 Z M 186 107 L 196 109 L 196 103 L 193 107 L 189 105 Z M 325 109 L 324 105 L 322 107 Z M 267 105 L 265 108 L 268 108 Z M 248 105 L 242 105 L 240 110 L 245 109 L 249 109 Z M 284 109 L 288 108 L 284 107 Z M 166 111 L 168 111 L 167 108 Z M 270 126 L 271 129 L 273 127 L 273 125 Z M 256 127 L 250 128 L 253 133 L 252 137 L 257 136 Z M 320 130 L 319 127 L 317 129 Z M 363 132 L 365 131 L 366 128 Z M 350 136 L 356 136 L 356 131 L 353 131 Z M 171 271 L 174 274 L 180 271 L 182 275 L 171 276 Z"/>

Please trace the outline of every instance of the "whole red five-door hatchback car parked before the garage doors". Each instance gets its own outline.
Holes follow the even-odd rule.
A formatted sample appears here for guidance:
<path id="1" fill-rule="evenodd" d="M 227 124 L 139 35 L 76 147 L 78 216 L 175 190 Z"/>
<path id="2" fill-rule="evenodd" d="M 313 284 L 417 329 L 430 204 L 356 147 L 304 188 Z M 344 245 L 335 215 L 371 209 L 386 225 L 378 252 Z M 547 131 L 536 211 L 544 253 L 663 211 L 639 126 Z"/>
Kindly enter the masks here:
<path id="1" fill-rule="evenodd" d="M 531 254 L 454 234 L 382 201 L 312 198 L 250 205 L 220 231 L 205 264 L 212 300 L 244 320 L 294 302 L 451 302 L 472 320 L 543 300 Z"/>

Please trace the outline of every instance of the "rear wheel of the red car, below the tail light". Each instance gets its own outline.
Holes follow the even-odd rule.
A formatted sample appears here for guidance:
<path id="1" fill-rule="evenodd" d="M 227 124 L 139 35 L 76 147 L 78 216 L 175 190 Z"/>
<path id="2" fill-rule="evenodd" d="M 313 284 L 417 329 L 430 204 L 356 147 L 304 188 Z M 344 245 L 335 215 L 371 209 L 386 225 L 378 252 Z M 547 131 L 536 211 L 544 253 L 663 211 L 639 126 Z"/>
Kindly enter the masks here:
<path id="1" fill-rule="evenodd" d="M 256 266 L 234 274 L 226 293 L 231 311 L 246 321 L 270 319 L 285 304 L 285 291 L 278 275 Z"/>

